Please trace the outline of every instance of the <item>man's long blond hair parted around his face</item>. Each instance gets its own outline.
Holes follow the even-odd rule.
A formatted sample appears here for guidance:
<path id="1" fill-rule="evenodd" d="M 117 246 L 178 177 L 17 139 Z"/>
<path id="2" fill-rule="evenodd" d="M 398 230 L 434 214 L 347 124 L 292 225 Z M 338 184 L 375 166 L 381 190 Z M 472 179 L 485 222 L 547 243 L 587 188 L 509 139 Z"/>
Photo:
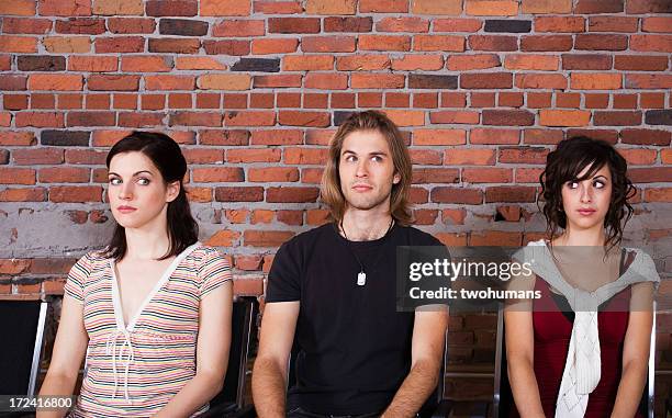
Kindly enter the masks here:
<path id="1" fill-rule="evenodd" d="M 352 113 L 338 127 L 329 143 L 329 158 L 322 176 L 321 197 L 328 206 L 332 219 L 340 223 L 346 210 L 346 200 L 340 189 L 340 176 L 338 163 L 343 150 L 343 142 L 346 136 L 358 131 L 380 132 L 388 140 L 392 152 L 394 172 L 399 174 L 400 181 L 392 184 L 390 195 L 390 215 L 401 225 L 413 222 L 411 204 L 408 203 L 408 190 L 411 188 L 412 163 L 408 148 L 404 143 L 401 132 L 388 116 L 376 111 Z"/>

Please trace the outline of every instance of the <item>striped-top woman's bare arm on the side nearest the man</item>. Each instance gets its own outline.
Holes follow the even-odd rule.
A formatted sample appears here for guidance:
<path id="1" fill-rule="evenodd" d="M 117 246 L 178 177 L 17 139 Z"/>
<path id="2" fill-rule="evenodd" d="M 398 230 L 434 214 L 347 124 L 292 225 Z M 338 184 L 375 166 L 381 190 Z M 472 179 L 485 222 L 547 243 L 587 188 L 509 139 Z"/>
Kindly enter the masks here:
<path id="1" fill-rule="evenodd" d="M 197 373 L 155 417 L 189 417 L 220 393 L 228 364 L 232 308 L 231 281 L 201 300 Z"/>

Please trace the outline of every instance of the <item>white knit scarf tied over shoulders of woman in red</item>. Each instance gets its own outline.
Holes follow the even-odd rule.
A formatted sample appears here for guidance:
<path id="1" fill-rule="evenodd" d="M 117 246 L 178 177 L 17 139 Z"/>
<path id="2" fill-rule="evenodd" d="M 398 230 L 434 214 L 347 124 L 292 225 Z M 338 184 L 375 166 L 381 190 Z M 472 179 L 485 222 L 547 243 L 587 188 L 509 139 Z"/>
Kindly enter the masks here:
<path id="1" fill-rule="evenodd" d="M 544 240 L 529 242 L 514 256 L 518 260 L 530 262 L 531 270 L 564 295 L 575 313 L 556 404 L 556 418 L 582 418 L 589 395 L 600 382 L 602 364 L 597 331 L 598 306 L 634 283 L 650 281 L 658 285 L 660 282 L 653 260 L 647 253 L 636 248 L 628 251 L 635 251 L 635 260 L 624 274 L 594 292 L 573 287 L 562 278 Z"/>

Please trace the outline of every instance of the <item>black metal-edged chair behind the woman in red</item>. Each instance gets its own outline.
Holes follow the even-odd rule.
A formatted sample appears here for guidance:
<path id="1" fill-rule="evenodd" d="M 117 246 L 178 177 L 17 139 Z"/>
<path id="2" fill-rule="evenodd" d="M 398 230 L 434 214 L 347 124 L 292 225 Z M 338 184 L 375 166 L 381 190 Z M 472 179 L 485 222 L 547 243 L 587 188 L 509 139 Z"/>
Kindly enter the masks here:
<path id="1" fill-rule="evenodd" d="M 511 383 L 508 382 L 508 372 L 506 368 L 506 348 L 504 346 L 504 308 L 500 305 L 497 310 L 497 340 L 495 350 L 495 377 L 494 377 L 494 396 L 493 396 L 493 418 L 506 417 L 511 408 L 514 406 L 513 393 Z M 639 403 L 639 413 L 647 417 L 653 418 L 653 385 L 656 374 L 656 303 L 653 303 L 653 326 L 651 328 L 651 344 L 649 350 L 649 370 L 647 373 L 647 383 Z"/>

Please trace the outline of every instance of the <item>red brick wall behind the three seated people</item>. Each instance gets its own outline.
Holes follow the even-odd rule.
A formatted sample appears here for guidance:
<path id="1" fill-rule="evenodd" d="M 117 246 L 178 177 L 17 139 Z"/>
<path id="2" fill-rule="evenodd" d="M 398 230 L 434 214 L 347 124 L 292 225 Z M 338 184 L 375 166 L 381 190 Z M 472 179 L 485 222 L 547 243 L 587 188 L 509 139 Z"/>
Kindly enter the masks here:
<path id="1" fill-rule="evenodd" d="M 261 295 L 277 247 L 324 222 L 326 145 L 362 109 L 407 133 L 417 223 L 450 245 L 538 238 L 553 144 L 615 143 L 638 187 L 626 238 L 670 275 L 671 13 L 669 0 L 2 1 L 0 292 L 61 294 L 110 233 L 105 152 L 139 128 L 183 144 L 202 239 L 231 255 L 236 293 Z M 492 361 L 492 327 L 475 323 L 452 321 L 455 364 Z"/>

